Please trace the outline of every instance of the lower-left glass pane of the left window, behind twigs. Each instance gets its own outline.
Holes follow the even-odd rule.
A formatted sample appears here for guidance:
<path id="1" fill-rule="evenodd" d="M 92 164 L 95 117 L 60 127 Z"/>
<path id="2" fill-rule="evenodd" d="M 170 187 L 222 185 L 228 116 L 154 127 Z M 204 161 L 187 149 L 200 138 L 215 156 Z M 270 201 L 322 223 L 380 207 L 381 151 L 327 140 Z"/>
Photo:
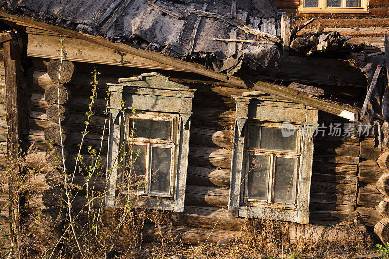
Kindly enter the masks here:
<path id="1" fill-rule="evenodd" d="M 145 184 L 145 175 L 146 175 L 146 153 L 147 147 L 141 145 L 132 146 L 132 170 L 134 174 L 130 175 L 131 188 L 137 190 L 143 190 Z M 127 166 L 131 165 L 131 161 Z"/>

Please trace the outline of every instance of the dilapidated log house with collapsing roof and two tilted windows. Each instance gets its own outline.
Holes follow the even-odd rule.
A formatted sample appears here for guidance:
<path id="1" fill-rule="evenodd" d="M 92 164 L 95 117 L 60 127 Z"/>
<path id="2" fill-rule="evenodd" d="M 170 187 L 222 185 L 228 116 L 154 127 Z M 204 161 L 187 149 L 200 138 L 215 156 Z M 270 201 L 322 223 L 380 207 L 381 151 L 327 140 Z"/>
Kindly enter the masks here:
<path id="1" fill-rule="evenodd" d="M 107 173 L 94 188 L 107 215 L 133 191 L 139 206 L 172 213 L 184 242 L 229 242 L 246 217 L 288 222 L 291 242 L 303 225 L 355 221 L 389 242 L 388 0 L 60 2 L 0 0 L 1 143 L 40 165 L 42 209 L 60 206 L 44 182 L 50 152 L 83 186 L 105 127 Z M 117 159 L 129 145 L 145 182 L 135 189 Z"/>

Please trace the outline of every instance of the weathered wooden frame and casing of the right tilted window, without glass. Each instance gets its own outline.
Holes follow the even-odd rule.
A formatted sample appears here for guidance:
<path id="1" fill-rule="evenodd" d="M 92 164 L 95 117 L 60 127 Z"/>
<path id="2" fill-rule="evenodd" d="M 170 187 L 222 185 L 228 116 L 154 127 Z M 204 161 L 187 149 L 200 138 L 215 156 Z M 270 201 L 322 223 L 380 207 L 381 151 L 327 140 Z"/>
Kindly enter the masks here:
<path id="1" fill-rule="evenodd" d="M 230 216 L 253 217 L 269 220 L 283 220 L 308 224 L 309 196 L 313 160 L 313 133 L 317 127 L 318 110 L 301 104 L 291 103 L 273 96 L 233 96 L 236 100 L 234 127 L 234 148 L 231 162 L 231 180 L 229 194 Z M 280 152 L 259 149 L 262 153 L 283 153 L 299 157 L 297 161 L 296 203 L 269 203 L 260 200 L 245 199 L 246 166 L 248 161 L 249 125 L 272 123 L 281 125 L 289 122 L 298 127 L 296 152 Z M 269 125 L 269 124 L 268 124 Z M 300 134 L 300 132 L 308 134 Z M 248 152 L 247 152 L 248 151 Z M 288 154 L 289 153 L 289 154 Z M 270 185 L 270 184 L 269 184 Z M 269 190 L 271 191 L 271 190 Z M 271 197 L 271 196 L 270 196 Z M 269 196 L 268 196 L 269 199 Z"/>

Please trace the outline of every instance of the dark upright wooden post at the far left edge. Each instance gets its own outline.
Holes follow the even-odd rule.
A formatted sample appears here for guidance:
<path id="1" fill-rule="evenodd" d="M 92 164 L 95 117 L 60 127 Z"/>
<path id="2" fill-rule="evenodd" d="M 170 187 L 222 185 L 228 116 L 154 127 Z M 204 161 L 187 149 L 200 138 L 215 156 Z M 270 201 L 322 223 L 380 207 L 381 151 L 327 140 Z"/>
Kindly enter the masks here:
<path id="1" fill-rule="evenodd" d="M 23 137 L 22 125 L 22 103 L 21 103 L 21 49 L 14 40 L 8 40 L 3 43 L 4 67 L 5 67 L 5 86 L 6 86 L 6 105 L 8 138 L 7 138 L 7 163 L 9 176 L 9 198 L 10 198 L 10 220 L 13 232 L 12 245 L 16 247 L 14 258 L 20 258 L 18 243 L 20 242 L 19 225 L 19 190 L 18 182 L 18 157 L 20 156 L 21 140 Z"/>

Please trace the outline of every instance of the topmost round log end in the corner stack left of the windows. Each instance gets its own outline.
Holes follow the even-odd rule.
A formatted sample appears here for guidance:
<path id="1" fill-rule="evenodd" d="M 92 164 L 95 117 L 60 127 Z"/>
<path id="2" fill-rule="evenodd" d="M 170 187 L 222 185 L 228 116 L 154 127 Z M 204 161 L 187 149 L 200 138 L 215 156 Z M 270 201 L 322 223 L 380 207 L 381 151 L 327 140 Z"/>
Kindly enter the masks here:
<path id="1" fill-rule="evenodd" d="M 58 84 L 59 68 L 61 68 L 60 84 L 66 84 L 71 82 L 77 73 L 77 68 L 71 61 L 61 61 L 57 59 L 50 59 L 47 63 L 47 73 L 50 76 L 53 84 Z"/>

